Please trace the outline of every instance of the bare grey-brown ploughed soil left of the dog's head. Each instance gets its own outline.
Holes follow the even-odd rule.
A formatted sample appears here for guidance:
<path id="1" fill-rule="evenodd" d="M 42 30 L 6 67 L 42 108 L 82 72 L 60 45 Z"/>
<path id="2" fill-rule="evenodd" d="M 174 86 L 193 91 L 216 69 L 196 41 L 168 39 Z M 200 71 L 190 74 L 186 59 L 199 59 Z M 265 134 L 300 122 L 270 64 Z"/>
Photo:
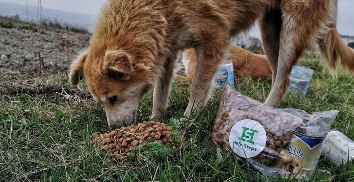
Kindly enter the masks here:
<path id="1" fill-rule="evenodd" d="M 1 20 L 0 18 L 0 22 Z M 0 74 L 7 72 L 37 74 L 39 61 L 37 54 L 33 61 L 31 36 L 31 32 L 33 36 L 36 35 L 36 30 L 24 29 L 24 25 L 17 27 L 0 28 Z M 70 62 L 80 51 L 89 46 L 89 39 L 90 34 L 69 33 Z M 45 27 L 40 29 L 35 51 L 40 51 L 48 74 L 53 75 L 68 69 L 65 43 L 64 30 L 51 30 Z"/>

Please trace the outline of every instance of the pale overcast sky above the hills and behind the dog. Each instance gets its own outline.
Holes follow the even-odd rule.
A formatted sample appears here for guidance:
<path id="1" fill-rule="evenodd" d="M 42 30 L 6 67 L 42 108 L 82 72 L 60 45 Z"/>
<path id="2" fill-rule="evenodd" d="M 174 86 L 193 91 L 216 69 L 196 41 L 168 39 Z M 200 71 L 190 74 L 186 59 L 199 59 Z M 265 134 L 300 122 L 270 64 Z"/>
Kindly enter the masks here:
<path id="1" fill-rule="evenodd" d="M 27 0 L 28 5 L 37 6 L 38 0 Z M 75 13 L 98 14 L 105 0 L 42 0 L 42 7 Z M 26 4 L 26 0 L 0 0 L 15 4 Z M 340 34 L 354 36 L 354 0 L 338 0 L 337 29 Z M 257 28 L 249 33 L 259 37 Z"/>

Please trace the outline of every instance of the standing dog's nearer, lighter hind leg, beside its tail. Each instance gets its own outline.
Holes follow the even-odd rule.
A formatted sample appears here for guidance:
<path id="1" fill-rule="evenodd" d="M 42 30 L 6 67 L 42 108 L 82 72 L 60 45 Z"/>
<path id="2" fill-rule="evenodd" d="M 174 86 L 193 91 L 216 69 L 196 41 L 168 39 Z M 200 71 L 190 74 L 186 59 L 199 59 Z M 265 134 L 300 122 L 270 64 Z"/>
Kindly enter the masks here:
<path id="1" fill-rule="evenodd" d="M 292 66 L 321 31 L 331 16 L 332 1 L 284 0 L 276 78 L 265 104 L 276 107 L 289 87 Z M 294 8 L 296 7 L 296 8 Z M 316 10 L 316 11 L 314 11 Z M 305 20 L 306 19 L 306 20 Z"/>

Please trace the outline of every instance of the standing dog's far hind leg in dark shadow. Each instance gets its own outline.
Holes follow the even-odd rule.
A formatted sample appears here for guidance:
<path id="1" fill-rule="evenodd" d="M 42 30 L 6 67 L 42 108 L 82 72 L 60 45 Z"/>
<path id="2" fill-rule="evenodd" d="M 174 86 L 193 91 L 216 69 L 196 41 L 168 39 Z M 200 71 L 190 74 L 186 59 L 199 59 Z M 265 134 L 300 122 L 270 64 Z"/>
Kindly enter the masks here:
<path id="1" fill-rule="evenodd" d="M 263 18 L 259 21 L 263 51 L 272 69 L 272 87 L 274 86 L 278 69 L 281 24 L 281 12 L 275 9 L 265 12 Z"/>

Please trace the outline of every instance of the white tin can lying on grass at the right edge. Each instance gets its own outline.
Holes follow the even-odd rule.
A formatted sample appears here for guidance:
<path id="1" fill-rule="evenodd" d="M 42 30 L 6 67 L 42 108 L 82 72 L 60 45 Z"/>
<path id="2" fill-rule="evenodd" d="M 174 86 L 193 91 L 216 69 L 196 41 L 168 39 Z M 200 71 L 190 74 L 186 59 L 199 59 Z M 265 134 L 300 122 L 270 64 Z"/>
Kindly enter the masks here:
<path id="1" fill-rule="evenodd" d="M 354 161 L 354 141 L 338 130 L 328 131 L 322 148 L 322 155 L 336 165 Z"/>

